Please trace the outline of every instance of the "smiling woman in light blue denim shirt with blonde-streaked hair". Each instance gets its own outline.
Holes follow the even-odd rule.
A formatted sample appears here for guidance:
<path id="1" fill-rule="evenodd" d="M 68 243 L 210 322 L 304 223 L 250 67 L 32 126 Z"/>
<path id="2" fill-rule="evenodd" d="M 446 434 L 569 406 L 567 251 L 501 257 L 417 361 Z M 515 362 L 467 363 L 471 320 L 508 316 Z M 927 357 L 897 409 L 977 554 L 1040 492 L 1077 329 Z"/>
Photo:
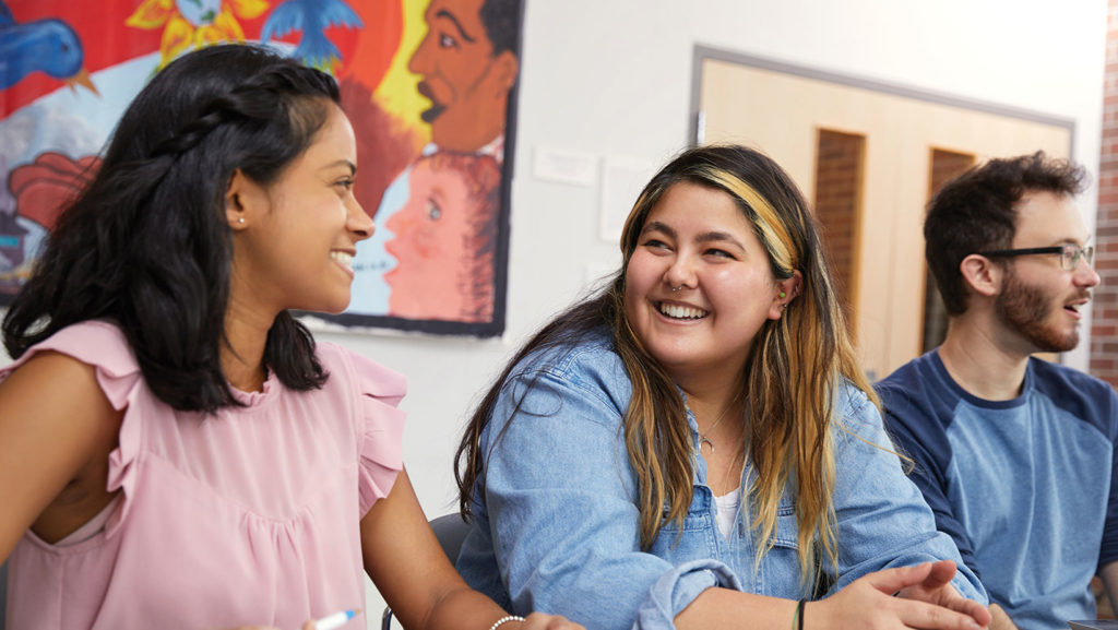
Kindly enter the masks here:
<path id="1" fill-rule="evenodd" d="M 986 626 L 882 430 L 790 178 L 749 149 L 689 150 L 622 252 L 463 436 L 466 581 L 595 629 Z"/>

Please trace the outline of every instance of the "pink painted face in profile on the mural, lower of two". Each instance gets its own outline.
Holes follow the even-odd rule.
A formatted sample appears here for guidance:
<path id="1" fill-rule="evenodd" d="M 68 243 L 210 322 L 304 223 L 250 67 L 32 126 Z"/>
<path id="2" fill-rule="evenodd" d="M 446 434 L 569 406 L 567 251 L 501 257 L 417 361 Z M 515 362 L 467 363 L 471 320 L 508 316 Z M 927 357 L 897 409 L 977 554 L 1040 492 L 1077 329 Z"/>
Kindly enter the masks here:
<path id="1" fill-rule="evenodd" d="M 386 227 L 394 317 L 489 321 L 500 169 L 489 156 L 435 154 L 411 170 L 408 203 Z"/>

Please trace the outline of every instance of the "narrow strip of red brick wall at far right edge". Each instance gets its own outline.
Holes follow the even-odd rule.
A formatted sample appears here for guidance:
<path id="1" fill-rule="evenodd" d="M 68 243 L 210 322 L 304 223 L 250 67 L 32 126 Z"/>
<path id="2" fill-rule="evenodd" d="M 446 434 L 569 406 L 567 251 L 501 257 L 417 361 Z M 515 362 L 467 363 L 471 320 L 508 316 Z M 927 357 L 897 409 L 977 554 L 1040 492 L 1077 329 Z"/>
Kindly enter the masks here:
<path id="1" fill-rule="evenodd" d="M 1102 149 L 1095 270 L 1102 283 L 1091 310 L 1095 376 L 1118 387 L 1118 0 L 1108 0 L 1107 65 L 1102 86 Z"/>

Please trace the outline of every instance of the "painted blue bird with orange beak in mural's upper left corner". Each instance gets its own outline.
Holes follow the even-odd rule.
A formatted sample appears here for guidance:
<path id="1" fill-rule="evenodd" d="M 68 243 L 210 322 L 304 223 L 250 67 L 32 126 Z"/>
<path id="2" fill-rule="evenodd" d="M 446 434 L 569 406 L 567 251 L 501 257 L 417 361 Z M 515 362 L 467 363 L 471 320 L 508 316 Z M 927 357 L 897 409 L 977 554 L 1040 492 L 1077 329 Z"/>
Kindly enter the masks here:
<path id="1" fill-rule="evenodd" d="M 100 94 L 83 67 L 77 32 L 63 20 L 19 23 L 0 0 L 0 90 L 7 90 L 38 70 L 65 81 L 70 90 L 83 85 Z"/>

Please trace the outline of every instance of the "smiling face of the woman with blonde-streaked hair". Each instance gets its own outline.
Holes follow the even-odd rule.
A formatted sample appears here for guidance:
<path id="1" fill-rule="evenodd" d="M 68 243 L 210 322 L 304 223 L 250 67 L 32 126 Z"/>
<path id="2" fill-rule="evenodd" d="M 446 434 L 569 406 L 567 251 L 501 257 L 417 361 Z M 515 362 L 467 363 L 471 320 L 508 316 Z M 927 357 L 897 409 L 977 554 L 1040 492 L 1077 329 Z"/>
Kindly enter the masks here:
<path id="1" fill-rule="evenodd" d="M 678 382 L 710 368 L 742 369 L 780 304 L 768 253 L 728 194 L 690 182 L 664 192 L 625 271 L 625 312 Z"/>

